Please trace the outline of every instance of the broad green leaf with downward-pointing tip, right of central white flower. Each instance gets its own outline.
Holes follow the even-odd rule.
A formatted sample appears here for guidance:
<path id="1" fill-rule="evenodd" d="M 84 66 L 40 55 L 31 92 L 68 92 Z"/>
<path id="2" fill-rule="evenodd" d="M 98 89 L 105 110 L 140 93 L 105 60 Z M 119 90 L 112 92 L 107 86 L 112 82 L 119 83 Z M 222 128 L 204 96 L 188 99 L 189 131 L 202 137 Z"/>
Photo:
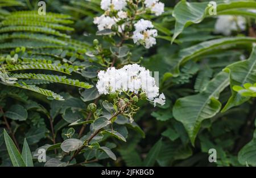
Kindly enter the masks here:
<path id="1" fill-rule="evenodd" d="M 220 92 L 228 85 L 228 74 L 221 72 L 210 80 L 200 94 L 185 96 L 176 101 L 172 112 L 176 120 L 183 123 L 192 144 L 195 142 L 201 122 L 220 111 L 221 103 L 217 99 Z"/>

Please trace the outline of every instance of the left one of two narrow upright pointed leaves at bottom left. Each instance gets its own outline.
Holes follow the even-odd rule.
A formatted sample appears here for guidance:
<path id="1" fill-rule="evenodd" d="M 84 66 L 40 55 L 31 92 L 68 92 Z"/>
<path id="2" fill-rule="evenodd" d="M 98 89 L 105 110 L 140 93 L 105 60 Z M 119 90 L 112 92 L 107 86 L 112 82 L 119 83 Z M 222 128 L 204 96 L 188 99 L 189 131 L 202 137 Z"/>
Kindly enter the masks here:
<path id="1" fill-rule="evenodd" d="M 26 167 L 26 164 L 24 163 L 22 156 L 20 155 L 13 140 L 7 134 L 5 129 L 3 130 L 3 135 L 5 137 L 5 144 L 6 144 L 10 159 L 11 159 L 11 163 L 13 163 L 13 166 L 14 167 Z"/>

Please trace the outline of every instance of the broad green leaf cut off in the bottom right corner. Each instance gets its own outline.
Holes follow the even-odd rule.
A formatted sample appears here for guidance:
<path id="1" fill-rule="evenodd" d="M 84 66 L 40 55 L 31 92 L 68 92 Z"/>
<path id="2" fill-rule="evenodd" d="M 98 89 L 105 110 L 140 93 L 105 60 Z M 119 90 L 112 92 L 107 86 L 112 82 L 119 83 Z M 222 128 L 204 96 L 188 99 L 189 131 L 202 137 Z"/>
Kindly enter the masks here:
<path id="1" fill-rule="evenodd" d="M 256 138 L 253 138 L 238 152 L 238 161 L 246 165 L 256 166 Z"/>

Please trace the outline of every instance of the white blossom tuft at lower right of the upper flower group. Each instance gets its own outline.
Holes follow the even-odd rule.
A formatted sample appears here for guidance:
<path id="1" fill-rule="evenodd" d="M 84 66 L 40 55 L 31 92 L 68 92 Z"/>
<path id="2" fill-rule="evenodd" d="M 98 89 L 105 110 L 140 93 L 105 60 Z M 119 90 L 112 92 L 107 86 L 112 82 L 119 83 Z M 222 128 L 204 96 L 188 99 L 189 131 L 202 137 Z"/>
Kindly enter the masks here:
<path id="1" fill-rule="evenodd" d="M 135 44 L 142 44 L 147 49 L 156 44 L 155 37 L 158 36 L 158 31 L 150 29 L 154 27 L 152 22 L 141 19 L 134 24 L 134 27 L 133 41 Z"/>

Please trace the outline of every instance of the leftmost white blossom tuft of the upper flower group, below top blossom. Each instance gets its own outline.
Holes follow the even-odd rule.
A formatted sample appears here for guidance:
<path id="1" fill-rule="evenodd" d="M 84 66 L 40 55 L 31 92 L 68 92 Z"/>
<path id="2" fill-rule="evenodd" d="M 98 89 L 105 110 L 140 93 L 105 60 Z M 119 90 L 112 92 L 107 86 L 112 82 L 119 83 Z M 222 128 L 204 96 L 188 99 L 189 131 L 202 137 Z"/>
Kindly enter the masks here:
<path id="1" fill-rule="evenodd" d="M 94 18 L 94 24 L 97 24 L 98 30 L 111 29 L 111 27 L 116 23 L 114 18 L 109 16 L 101 15 Z"/>

